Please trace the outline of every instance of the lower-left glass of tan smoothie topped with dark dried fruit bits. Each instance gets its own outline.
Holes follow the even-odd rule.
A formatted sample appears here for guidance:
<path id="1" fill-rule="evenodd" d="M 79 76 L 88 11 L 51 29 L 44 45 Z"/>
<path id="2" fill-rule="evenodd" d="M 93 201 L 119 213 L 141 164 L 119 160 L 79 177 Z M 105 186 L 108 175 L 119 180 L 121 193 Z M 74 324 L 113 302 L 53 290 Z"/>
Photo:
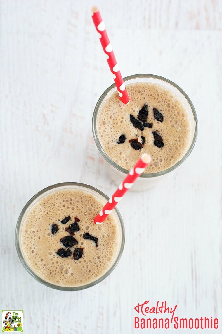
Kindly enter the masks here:
<path id="1" fill-rule="evenodd" d="M 90 287 L 107 277 L 124 245 L 124 227 L 115 208 L 94 223 L 108 197 L 78 183 L 58 184 L 31 199 L 21 213 L 17 251 L 28 272 L 60 290 Z"/>

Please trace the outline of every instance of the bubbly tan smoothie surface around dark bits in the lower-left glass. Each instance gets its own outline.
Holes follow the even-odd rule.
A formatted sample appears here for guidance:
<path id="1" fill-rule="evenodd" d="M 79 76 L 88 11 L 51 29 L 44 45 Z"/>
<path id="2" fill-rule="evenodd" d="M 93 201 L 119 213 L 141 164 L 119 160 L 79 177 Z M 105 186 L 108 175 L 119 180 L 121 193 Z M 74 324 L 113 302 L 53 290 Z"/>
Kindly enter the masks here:
<path id="1" fill-rule="evenodd" d="M 25 218 L 21 234 L 22 248 L 30 268 L 43 280 L 59 286 L 74 287 L 88 284 L 103 276 L 117 257 L 120 235 L 113 215 L 101 225 L 94 218 L 104 203 L 92 194 L 80 190 L 59 190 L 40 200 Z M 66 224 L 60 221 L 70 215 Z M 80 231 L 74 237 L 78 244 L 70 247 L 84 248 L 79 260 L 62 258 L 56 254 L 63 245 L 60 239 L 70 235 L 65 227 L 75 221 Z M 56 223 L 59 230 L 52 234 L 51 226 Z M 92 240 L 83 238 L 89 232 L 98 238 L 98 247 Z"/>

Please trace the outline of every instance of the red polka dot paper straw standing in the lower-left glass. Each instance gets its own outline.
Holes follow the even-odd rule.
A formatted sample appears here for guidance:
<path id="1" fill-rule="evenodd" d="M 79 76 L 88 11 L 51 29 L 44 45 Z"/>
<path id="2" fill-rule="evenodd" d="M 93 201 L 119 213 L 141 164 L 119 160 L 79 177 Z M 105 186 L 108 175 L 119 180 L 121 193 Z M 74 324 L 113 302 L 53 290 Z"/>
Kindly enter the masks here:
<path id="1" fill-rule="evenodd" d="M 104 222 L 106 217 L 111 213 L 116 204 L 120 201 L 122 196 L 126 193 L 126 191 L 131 188 L 135 180 L 139 175 L 142 174 L 147 165 L 151 162 L 151 157 L 149 154 L 143 153 L 135 166 L 129 171 L 129 174 L 123 180 L 123 182 L 118 186 L 112 197 L 109 201 L 104 205 L 100 213 L 95 217 L 94 223 L 101 224 Z"/>

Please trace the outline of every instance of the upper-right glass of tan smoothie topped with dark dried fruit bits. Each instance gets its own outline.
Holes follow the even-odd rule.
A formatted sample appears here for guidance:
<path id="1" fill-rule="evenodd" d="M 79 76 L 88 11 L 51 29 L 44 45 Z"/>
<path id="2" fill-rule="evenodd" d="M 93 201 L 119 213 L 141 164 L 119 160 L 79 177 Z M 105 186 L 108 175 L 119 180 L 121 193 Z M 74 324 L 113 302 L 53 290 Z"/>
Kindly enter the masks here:
<path id="1" fill-rule="evenodd" d="M 179 166 L 197 136 L 197 117 L 189 97 L 175 83 L 151 74 L 124 78 L 130 101 L 123 104 L 114 85 L 99 99 L 93 115 L 93 135 L 108 162 L 115 183 L 142 153 L 152 162 L 133 190 L 145 190 Z"/>

